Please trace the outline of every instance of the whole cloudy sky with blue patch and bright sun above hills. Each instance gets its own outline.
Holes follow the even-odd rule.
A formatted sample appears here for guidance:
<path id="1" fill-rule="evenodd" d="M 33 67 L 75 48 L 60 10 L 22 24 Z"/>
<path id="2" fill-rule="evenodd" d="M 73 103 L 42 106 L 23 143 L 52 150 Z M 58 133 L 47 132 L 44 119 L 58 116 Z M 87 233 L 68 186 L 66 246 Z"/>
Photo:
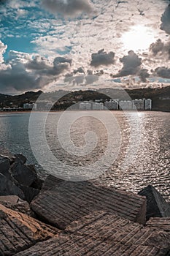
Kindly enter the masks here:
<path id="1" fill-rule="evenodd" d="M 169 4 L 0 0 L 0 93 L 169 86 Z"/>

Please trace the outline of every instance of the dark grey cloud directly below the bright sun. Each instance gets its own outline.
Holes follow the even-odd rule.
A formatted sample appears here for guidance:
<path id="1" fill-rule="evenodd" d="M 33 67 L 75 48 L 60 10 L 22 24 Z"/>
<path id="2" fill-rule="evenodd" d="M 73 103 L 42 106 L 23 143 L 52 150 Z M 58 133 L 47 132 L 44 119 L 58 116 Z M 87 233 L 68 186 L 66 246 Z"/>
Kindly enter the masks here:
<path id="1" fill-rule="evenodd" d="M 117 75 L 112 75 L 114 78 L 136 75 L 142 64 L 141 58 L 134 53 L 134 50 L 128 51 L 128 55 L 123 56 L 123 58 L 120 59 L 120 62 L 123 63 L 123 68 L 117 73 Z"/>

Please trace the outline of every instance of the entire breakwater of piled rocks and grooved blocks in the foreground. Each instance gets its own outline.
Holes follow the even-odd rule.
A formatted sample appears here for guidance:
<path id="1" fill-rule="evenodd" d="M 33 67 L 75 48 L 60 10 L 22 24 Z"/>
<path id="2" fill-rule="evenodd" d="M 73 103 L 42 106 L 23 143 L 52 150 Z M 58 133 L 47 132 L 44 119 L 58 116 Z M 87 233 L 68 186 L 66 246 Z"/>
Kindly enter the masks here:
<path id="1" fill-rule="evenodd" d="M 42 182 L 21 154 L 0 155 L 0 255 L 170 255 L 170 208 L 92 182 Z M 147 222 L 146 222 L 147 219 Z"/>

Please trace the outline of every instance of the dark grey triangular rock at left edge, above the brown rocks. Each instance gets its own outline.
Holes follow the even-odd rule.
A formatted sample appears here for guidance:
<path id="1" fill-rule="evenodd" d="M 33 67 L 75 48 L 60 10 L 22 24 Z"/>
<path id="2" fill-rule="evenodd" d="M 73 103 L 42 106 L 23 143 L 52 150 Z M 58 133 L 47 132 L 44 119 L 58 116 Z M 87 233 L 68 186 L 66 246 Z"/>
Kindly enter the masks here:
<path id="1" fill-rule="evenodd" d="M 18 197 L 22 199 L 24 198 L 23 191 L 1 173 L 0 173 L 0 195 L 18 195 Z"/>

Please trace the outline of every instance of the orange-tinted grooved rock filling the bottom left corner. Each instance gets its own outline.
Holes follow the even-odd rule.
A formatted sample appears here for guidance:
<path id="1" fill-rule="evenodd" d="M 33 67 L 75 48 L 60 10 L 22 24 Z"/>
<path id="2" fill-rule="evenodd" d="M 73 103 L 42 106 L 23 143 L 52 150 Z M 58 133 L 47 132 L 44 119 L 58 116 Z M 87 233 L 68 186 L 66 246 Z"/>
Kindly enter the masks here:
<path id="1" fill-rule="evenodd" d="M 14 255 L 38 241 L 58 236 L 58 230 L 36 221 L 26 214 L 0 205 L 0 255 Z"/>

